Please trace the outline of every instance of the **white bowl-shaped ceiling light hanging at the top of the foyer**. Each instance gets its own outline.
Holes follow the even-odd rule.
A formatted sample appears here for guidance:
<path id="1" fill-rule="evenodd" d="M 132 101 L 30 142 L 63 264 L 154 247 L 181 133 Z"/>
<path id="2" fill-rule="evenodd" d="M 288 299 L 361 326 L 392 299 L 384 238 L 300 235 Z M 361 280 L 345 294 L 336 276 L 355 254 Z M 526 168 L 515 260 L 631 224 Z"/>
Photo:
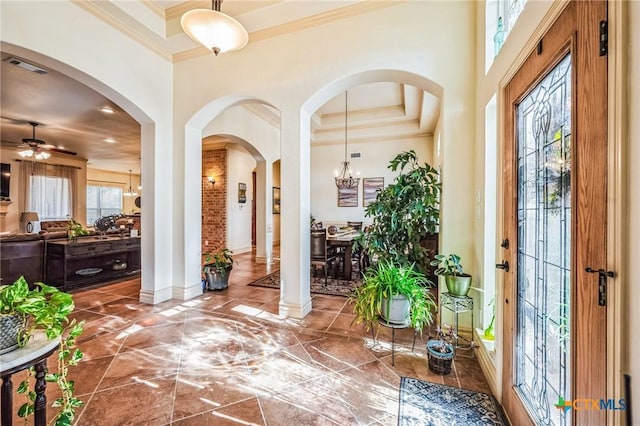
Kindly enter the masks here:
<path id="1" fill-rule="evenodd" d="M 247 30 L 240 22 L 220 12 L 222 0 L 211 3 L 213 10 L 193 9 L 182 15 L 180 25 L 184 32 L 216 56 L 245 47 L 249 41 Z"/>

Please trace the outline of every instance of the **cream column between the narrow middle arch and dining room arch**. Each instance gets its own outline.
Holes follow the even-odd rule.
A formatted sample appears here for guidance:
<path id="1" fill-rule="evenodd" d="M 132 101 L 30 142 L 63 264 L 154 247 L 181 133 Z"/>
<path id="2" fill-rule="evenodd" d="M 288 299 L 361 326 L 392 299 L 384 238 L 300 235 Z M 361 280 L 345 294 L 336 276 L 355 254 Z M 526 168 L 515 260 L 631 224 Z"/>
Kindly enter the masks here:
<path id="1" fill-rule="evenodd" d="M 300 110 L 281 116 L 280 316 L 303 318 L 311 312 L 309 283 L 310 117 Z"/>

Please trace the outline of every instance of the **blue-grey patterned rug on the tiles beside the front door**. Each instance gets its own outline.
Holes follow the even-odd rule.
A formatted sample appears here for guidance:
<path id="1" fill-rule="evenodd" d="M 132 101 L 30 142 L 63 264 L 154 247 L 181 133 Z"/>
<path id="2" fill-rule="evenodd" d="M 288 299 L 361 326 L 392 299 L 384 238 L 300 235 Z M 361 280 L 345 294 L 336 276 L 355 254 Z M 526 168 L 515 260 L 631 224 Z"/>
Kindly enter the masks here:
<path id="1" fill-rule="evenodd" d="M 425 382 L 400 380 L 398 426 L 508 425 L 498 401 L 486 393 Z"/>

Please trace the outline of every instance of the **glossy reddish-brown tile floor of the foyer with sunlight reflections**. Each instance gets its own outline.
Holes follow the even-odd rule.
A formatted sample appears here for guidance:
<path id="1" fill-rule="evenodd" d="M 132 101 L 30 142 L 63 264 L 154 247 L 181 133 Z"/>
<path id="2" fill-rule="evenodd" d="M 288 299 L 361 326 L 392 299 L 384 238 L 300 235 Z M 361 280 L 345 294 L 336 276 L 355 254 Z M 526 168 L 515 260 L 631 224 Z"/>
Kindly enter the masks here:
<path id="1" fill-rule="evenodd" d="M 236 259 L 227 290 L 186 302 L 141 304 L 138 279 L 74 292 L 77 425 L 395 425 L 401 376 L 489 392 L 472 358 L 431 373 L 426 333 L 412 351 L 399 330 L 392 366 L 389 330 L 374 345 L 345 298 L 314 295 L 306 318 L 279 318 L 278 290 L 246 285 L 267 267 Z"/>

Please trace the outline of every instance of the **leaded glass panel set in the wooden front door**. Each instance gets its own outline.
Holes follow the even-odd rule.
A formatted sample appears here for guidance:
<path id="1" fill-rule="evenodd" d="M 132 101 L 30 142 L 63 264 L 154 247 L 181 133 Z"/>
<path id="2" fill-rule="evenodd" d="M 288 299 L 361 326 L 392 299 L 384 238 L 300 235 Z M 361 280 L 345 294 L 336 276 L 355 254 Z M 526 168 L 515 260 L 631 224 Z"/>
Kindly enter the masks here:
<path id="1" fill-rule="evenodd" d="M 518 393 L 536 424 L 571 410 L 571 56 L 516 109 L 518 152 Z"/>

